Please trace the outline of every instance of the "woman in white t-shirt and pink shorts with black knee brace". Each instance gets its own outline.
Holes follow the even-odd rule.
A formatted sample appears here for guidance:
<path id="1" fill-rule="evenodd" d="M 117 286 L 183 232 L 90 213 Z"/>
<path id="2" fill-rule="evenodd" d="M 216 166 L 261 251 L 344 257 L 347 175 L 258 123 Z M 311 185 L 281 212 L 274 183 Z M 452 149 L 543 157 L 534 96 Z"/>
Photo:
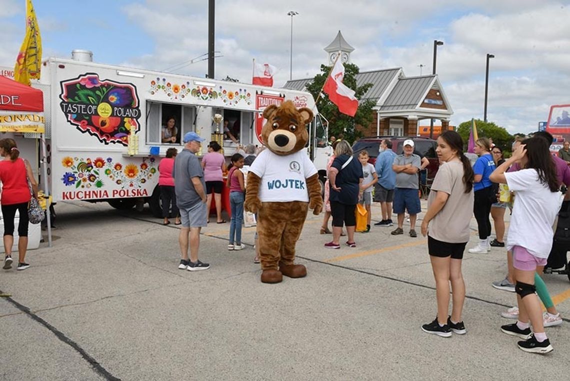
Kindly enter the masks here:
<path id="1" fill-rule="evenodd" d="M 524 169 L 506 173 L 514 163 Z M 508 189 L 516 193 L 507 249 L 512 250 L 519 319 L 502 326 L 501 331 L 523 338 L 524 341 L 518 342 L 523 351 L 548 353 L 552 346 L 544 333 L 543 315 L 535 293 L 535 272 L 541 273 L 546 265 L 552 248 L 552 224 L 562 201 L 548 142 L 538 136 L 524 140 L 512 156 L 495 169 L 490 179 L 507 184 Z"/>

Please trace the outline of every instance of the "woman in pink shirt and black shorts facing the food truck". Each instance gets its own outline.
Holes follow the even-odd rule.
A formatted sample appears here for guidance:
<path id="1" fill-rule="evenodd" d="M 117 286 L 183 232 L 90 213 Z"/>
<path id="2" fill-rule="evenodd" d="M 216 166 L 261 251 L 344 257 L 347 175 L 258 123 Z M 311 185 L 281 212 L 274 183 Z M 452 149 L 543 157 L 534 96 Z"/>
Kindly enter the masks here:
<path id="1" fill-rule="evenodd" d="M 222 220 L 222 189 L 223 172 L 226 172 L 226 159 L 219 150 L 222 149 L 216 141 L 208 145 L 208 153 L 202 157 L 202 168 L 204 169 L 204 181 L 206 181 L 206 208 L 210 216 L 210 204 L 212 193 L 214 193 L 215 211 L 218 217 L 218 224 L 223 224 Z M 208 218 L 208 222 L 210 219 Z"/>

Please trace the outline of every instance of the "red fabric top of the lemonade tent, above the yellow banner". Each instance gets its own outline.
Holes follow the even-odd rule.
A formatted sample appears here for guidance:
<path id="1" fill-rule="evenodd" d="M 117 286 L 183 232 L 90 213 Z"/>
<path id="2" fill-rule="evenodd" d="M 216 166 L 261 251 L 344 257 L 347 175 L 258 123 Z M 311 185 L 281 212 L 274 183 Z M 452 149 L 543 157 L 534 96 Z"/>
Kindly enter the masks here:
<path id="1" fill-rule="evenodd" d="M 0 110 L 43 111 L 42 90 L 0 76 Z"/>

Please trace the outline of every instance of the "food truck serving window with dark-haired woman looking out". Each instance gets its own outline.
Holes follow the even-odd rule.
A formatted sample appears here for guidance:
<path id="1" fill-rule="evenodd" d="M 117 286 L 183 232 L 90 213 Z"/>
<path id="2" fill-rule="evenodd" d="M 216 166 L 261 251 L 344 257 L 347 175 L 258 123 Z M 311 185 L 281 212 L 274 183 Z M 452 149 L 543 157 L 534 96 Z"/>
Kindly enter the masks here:
<path id="1" fill-rule="evenodd" d="M 146 102 L 146 143 L 181 145 L 193 131 L 196 108 L 180 104 Z"/>

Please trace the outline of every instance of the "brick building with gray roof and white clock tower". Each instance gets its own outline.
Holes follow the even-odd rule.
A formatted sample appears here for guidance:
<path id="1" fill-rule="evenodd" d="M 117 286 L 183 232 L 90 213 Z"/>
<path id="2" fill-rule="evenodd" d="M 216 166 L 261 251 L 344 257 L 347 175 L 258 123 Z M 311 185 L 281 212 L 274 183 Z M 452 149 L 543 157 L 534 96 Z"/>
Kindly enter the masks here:
<path id="1" fill-rule="evenodd" d="M 341 54 L 342 62 L 350 62 L 354 50 L 339 33 L 324 50 L 329 65 Z M 287 81 L 284 88 L 305 90 L 312 78 Z M 370 135 L 419 135 L 422 119 L 440 120 L 443 129 L 449 126 L 453 110 L 436 75 L 406 76 L 401 67 L 363 71 L 356 75 L 357 86 L 372 83 L 361 100 L 372 100 L 374 121 L 368 126 L 357 126 L 365 136 Z"/>

